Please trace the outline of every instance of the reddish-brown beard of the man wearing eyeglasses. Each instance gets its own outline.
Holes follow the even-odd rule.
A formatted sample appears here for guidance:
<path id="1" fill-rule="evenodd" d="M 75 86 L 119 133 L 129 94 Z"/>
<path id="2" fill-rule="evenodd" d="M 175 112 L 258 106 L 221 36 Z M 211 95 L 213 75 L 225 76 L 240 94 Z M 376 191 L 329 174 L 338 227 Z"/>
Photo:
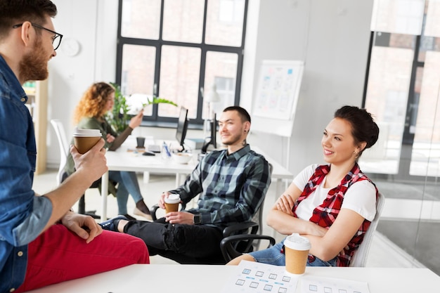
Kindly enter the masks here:
<path id="1" fill-rule="evenodd" d="M 41 45 L 41 38 L 34 44 L 34 50 L 23 56 L 20 61 L 20 81 L 44 80 L 48 77 L 47 70 L 48 59 Z"/>

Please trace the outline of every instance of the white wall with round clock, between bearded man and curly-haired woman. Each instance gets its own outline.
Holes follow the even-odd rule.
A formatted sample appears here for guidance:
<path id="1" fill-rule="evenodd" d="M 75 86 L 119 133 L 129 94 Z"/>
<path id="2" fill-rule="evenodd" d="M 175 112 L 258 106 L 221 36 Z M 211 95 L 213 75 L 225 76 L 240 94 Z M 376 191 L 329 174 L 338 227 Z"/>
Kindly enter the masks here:
<path id="1" fill-rule="evenodd" d="M 60 119 L 70 136 L 74 127 L 72 113 L 82 93 L 98 81 L 115 81 L 117 0 L 53 0 L 58 15 L 55 30 L 63 34 L 57 56 L 49 62 L 48 120 Z M 65 39 L 79 41 L 77 56 L 63 53 Z M 48 167 L 57 167 L 60 152 L 48 123 Z"/>

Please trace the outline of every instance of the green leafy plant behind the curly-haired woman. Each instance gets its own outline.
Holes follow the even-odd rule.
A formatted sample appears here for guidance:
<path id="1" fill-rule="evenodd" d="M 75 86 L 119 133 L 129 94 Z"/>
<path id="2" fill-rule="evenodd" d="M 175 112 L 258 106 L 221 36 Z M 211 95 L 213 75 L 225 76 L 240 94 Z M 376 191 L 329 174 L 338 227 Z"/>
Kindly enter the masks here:
<path id="1" fill-rule="evenodd" d="M 108 121 L 112 124 L 115 131 L 120 133 L 129 126 L 130 116 L 128 112 L 130 108 L 129 105 L 127 105 L 127 98 L 121 93 L 121 86 L 112 82 L 110 82 L 110 84 L 115 88 L 115 105 L 113 105 L 112 112 L 109 114 L 110 117 Z M 142 106 L 145 107 L 159 103 L 166 103 L 177 107 L 177 104 L 172 100 L 167 100 L 154 95 L 152 99 L 148 98 L 147 103 L 143 103 Z"/>

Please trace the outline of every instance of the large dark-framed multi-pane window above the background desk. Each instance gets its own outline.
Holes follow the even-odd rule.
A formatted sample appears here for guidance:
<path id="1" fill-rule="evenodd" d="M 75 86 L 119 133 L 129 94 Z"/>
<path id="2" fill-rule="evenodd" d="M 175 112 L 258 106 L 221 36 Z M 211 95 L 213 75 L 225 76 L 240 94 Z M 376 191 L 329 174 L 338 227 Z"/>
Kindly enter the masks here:
<path id="1" fill-rule="evenodd" d="M 247 0 L 119 0 L 117 81 L 136 112 L 151 96 L 188 108 L 202 124 L 208 107 L 238 104 Z M 215 85 L 220 101 L 204 96 Z M 144 120 L 176 122 L 179 108 L 159 104 Z"/>

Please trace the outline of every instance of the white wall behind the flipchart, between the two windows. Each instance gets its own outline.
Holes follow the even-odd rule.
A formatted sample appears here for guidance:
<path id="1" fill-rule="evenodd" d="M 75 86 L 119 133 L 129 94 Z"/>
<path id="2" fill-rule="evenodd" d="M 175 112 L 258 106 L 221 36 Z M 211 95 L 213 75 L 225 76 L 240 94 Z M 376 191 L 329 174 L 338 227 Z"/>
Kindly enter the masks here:
<path id="1" fill-rule="evenodd" d="M 261 60 L 305 62 L 290 139 L 288 169 L 294 174 L 322 161 L 322 132 L 333 112 L 361 106 L 372 8 L 373 1 L 260 1 L 256 45 L 247 48 L 256 49 L 255 68 L 245 67 L 243 80 L 257 81 Z M 242 100 L 256 91 L 257 84 L 244 88 Z M 286 166 L 287 138 L 254 131 L 251 142 Z"/>

